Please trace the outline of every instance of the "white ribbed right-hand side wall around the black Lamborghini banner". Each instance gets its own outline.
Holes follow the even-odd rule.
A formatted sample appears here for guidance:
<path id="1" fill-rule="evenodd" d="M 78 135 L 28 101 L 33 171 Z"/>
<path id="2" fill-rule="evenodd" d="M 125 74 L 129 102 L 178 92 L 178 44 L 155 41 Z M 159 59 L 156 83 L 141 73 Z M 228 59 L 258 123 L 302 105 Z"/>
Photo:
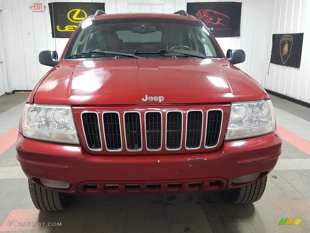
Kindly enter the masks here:
<path id="1" fill-rule="evenodd" d="M 268 59 L 271 56 L 272 34 L 304 33 L 300 68 L 270 63 L 265 73 L 264 87 L 286 96 L 310 103 L 310 82 L 307 54 L 310 52 L 310 2 L 308 0 L 277 0 L 270 7 L 271 25 Z M 269 60 L 270 61 L 270 60 Z"/>

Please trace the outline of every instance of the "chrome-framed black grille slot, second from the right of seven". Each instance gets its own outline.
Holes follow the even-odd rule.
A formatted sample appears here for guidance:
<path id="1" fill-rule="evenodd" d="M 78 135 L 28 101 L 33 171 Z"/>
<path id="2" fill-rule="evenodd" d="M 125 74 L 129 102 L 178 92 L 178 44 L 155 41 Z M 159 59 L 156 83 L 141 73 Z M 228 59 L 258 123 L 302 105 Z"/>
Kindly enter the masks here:
<path id="1" fill-rule="evenodd" d="M 198 149 L 201 146 L 202 111 L 192 110 L 187 112 L 186 119 L 186 149 Z"/>

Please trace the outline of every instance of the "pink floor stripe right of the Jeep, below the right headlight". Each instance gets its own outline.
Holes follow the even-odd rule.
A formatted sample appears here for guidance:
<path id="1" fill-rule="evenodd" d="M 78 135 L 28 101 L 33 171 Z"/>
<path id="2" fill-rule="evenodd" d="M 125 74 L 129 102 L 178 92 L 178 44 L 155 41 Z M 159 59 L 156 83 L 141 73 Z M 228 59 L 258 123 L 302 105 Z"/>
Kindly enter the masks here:
<path id="1" fill-rule="evenodd" d="M 300 137 L 292 133 L 290 130 L 283 128 L 282 126 L 277 125 L 278 132 L 281 138 L 288 142 L 289 144 L 293 145 L 294 147 L 298 148 L 299 150 L 303 151 L 310 155 L 310 142 L 306 139 Z"/>

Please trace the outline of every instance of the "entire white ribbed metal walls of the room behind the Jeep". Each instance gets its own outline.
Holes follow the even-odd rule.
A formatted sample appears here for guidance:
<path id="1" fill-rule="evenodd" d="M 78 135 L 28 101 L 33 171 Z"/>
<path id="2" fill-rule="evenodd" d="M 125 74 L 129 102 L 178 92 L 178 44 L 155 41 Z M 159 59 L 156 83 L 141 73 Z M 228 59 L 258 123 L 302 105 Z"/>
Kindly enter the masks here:
<path id="1" fill-rule="evenodd" d="M 6 91 L 32 89 L 48 70 L 38 63 L 38 53 L 45 49 L 57 49 L 61 53 L 67 39 L 51 37 L 48 2 L 105 2 L 107 13 L 164 12 L 186 9 L 187 2 L 228 2 L 231 0 L 2 0 L 0 12 L 7 81 Z M 1 2 L 1 0 L 0 0 Z M 47 9 L 32 12 L 31 2 L 44 2 Z M 243 0 L 241 36 L 218 38 L 226 53 L 228 48 L 241 48 L 246 52 L 246 62 L 237 65 L 259 81 L 266 89 L 310 103 L 309 62 L 305 54 L 310 52 L 308 0 Z M 309 2 L 309 3 L 308 3 Z M 304 33 L 300 69 L 270 64 L 272 34 Z M 0 33 L 1 36 L 1 33 Z M 0 48 L 1 49 L 1 48 Z M 1 51 L 1 50 L 0 50 Z M 268 73 L 269 70 L 269 73 Z M 1 80 L 0 80 L 1 84 Z"/>

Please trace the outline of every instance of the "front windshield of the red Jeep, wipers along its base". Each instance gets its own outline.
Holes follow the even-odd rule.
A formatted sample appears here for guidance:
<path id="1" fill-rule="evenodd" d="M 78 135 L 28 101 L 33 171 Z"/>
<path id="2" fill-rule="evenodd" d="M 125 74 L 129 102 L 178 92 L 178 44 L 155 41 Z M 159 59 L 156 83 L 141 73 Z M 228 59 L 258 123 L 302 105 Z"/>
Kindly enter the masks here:
<path id="1" fill-rule="evenodd" d="M 157 51 L 161 52 L 156 53 Z M 148 56 L 194 57 L 186 54 L 198 55 L 196 57 L 202 58 L 223 58 L 214 39 L 199 21 L 117 18 L 84 21 L 73 35 L 64 59 L 115 57 L 118 55 L 116 53 L 126 54 L 125 58 L 136 58 L 128 54 L 145 58 Z"/>

